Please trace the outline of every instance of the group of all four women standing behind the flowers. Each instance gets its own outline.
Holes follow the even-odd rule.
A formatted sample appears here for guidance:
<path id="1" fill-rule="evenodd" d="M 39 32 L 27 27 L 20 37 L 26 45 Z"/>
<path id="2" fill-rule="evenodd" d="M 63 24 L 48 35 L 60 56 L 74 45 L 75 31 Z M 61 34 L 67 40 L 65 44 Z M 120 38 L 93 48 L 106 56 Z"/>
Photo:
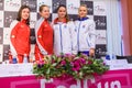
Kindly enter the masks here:
<path id="1" fill-rule="evenodd" d="M 87 54 L 94 56 L 96 30 L 95 22 L 87 18 L 87 7 L 80 6 L 78 19 L 69 21 L 67 9 L 64 4 L 57 8 L 57 18 L 50 23 L 50 8 L 42 4 L 38 9 L 41 18 L 35 24 L 35 61 L 44 55 L 59 54 Z M 23 57 L 29 59 L 30 54 L 30 8 L 22 6 L 18 13 L 19 19 L 11 23 L 11 55 L 16 56 L 19 63 Z"/>

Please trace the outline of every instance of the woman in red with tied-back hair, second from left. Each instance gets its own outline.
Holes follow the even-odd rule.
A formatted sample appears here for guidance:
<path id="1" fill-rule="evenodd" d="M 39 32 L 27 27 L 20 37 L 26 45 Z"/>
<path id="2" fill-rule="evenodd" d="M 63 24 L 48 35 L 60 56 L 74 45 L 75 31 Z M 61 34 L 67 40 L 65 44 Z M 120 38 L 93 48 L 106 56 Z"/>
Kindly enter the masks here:
<path id="1" fill-rule="evenodd" d="M 40 61 L 44 55 L 53 54 L 53 29 L 47 19 L 50 18 L 50 8 L 45 4 L 40 7 L 41 19 L 35 24 L 35 59 Z"/>

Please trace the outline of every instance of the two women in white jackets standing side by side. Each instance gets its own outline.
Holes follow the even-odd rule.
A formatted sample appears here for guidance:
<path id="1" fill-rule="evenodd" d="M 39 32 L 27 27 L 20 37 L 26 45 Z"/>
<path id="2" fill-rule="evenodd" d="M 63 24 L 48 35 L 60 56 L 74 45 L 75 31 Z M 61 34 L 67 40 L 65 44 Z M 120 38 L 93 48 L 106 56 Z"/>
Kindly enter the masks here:
<path id="1" fill-rule="evenodd" d="M 95 55 L 96 29 L 90 20 L 86 4 L 78 9 L 78 20 L 68 20 L 65 6 L 57 8 L 58 18 L 54 20 L 54 53 Z"/>

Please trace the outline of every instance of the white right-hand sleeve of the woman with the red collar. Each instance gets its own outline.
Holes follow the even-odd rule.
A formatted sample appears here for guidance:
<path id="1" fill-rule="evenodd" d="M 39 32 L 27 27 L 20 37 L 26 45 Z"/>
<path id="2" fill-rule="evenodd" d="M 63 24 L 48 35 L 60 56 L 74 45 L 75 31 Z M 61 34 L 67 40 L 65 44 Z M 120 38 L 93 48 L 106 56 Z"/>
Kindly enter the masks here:
<path id="1" fill-rule="evenodd" d="M 68 26 L 72 38 L 72 53 L 77 54 L 77 38 L 76 38 L 77 33 L 76 33 L 75 23 L 73 21 L 68 22 Z"/>

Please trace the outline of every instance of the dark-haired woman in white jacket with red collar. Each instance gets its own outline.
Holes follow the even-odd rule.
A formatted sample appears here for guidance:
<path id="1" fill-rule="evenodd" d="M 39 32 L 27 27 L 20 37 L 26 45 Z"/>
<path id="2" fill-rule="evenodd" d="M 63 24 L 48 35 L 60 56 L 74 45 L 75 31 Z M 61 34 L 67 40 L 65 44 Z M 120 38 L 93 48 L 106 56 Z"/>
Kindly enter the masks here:
<path id="1" fill-rule="evenodd" d="M 68 15 L 66 7 L 61 4 L 57 8 L 58 16 L 53 22 L 54 28 L 54 53 L 59 54 L 72 54 L 72 22 L 68 22 Z"/>

